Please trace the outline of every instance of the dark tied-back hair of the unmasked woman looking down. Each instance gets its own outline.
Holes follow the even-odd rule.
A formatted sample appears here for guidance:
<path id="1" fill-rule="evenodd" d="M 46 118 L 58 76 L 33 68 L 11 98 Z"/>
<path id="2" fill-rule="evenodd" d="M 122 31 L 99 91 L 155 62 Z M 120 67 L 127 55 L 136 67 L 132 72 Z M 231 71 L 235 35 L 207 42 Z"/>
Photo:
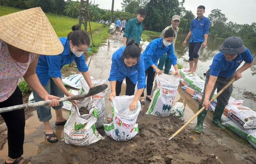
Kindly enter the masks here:
<path id="1" fill-rule="evenodd" d="M 137 58 L 137 61 L 139 61 L 140 56 L 141 47 L 139 47 L 139 44 L 134 40 L 130 40 L 130 42 L 126 45 L 124 52 L 122 53 L 122 60 L 124 60 L 124 58 Z"/>

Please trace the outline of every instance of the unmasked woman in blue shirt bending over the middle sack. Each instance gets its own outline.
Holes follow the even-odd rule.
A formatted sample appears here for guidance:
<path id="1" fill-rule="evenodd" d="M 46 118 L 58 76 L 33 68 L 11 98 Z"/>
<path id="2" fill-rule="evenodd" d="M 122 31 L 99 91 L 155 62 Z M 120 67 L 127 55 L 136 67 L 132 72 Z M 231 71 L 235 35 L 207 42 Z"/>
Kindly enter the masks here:
<path id="1" fill-rule="evenodd" d="M 119 96 L 124 78 L 126 78 L 125 95 L 134 95 L 137 83 L 138 90 L 130 104 L 130 110 L 133 111 L 146 87 L 145 66 L 141 56 L 141 48 L 134 40 L 131 40 L 127 46 L 119 48 L 112 56 L 111 71 L 108 78 L 112 93 L 108 97 L 109 100 L 112 100 L 112 97 Z"/>

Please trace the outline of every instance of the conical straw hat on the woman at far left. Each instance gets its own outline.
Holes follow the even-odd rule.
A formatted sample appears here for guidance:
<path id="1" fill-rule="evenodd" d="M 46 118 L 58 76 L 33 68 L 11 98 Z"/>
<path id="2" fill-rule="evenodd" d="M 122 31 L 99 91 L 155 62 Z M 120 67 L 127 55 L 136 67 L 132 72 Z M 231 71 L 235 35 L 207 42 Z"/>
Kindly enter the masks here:
<path id="1" fill-rule="evenodd" d="M 39 55 L 58 55 L 64 49 L 41 7 L 1 16 L 0 39 Z"/>

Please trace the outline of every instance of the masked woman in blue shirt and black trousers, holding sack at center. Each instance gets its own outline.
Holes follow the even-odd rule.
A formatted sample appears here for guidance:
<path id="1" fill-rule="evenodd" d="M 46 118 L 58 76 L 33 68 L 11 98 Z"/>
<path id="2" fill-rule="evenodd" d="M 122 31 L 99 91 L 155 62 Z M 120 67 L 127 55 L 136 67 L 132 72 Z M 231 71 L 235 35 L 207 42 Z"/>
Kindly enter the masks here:
<path id="1" fill-rule="evenodd" d="M 151 101 L 151 92 L 153 88 L 155 72 L 161 75 L 163 72 L 158 69 L 158 60 L 167 53 L 167 56 L 171 60 L 173 67 L 175 69 L 175 75 L 180 76 L 177 66 L 177 57 L 174 54 L 173 41 L 175 38 L 175 33 L 173 29 L 168 29 L 165 31 L 163 38 L 158 38 L 152 40 L 148 44 L 147 48 L 143 52 L 143 59 L 145 64 L 145 75 L 147 77 L 147 96 L 146 99 Z M 141 94 L 141 104 L 145 104 L 144 92 Z"/>

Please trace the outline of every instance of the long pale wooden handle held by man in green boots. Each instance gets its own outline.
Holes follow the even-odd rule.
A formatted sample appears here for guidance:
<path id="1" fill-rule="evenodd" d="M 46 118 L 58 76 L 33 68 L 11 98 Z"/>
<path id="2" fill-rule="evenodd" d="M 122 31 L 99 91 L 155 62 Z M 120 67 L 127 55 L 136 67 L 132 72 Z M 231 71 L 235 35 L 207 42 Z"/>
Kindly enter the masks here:
<path id="1" fill-rule="evenodd" d="M 229 87 L 234 81 L 236 80 L 236 78 L 232 78 L 232 80 L 230 82 L 228 82 L 228 84 L 226 84 L 226 86 L 224 86 L 219 93 L 217 93 L 217 95 L 215 95 L 210 102 L 212 102 L 213 100 L 215 100 L 221 93 L 223 93 L 224 90 L 227 89 L 227 87 Z M 178 135 L 184 128 L 186 128 L 186 126 L 193 121 L 203 110 L 205 109 L 205 107 L 203 106 L 192 118 L 190 118 L 186 124 L 184 124 L 180 129 L 178 129 L 178 131 L 176 131 L 170 138 L 169 140 L 172 140 L 176 135 Z"/>

